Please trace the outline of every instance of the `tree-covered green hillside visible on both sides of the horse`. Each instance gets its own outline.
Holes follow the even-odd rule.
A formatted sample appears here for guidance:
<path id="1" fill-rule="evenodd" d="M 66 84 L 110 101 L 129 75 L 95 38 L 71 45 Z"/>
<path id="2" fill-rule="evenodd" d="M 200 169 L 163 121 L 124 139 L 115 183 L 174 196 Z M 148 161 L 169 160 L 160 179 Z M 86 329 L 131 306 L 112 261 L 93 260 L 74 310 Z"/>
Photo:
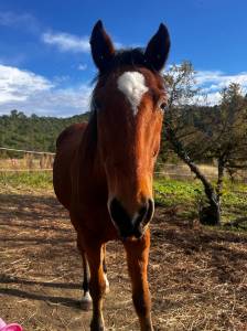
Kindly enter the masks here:
<path id="1" fill-rule="evenodd" d="M 208 130 L 208 119 L 214 118 L 217 111 L 217 107 L 190 107 L 189 109 L 184 107 L 183 127 Z M 87 120 L 88 116 L 87 113 L 67 118 L 36 115 L 28 117 L 22 111 L 12 110 L 10 115 L 0 116 L 0 147 L 54 152 L 60 132 L 71 124 Z M 164 161 L 171 156 L 171 151 L 165 146 L 164 130 L 162 136 L 160 158 Z M 196 145 L 196 139 L 194 143 Z M 192 139 L 190 146 L 194 147 L 194 143 Z"/>

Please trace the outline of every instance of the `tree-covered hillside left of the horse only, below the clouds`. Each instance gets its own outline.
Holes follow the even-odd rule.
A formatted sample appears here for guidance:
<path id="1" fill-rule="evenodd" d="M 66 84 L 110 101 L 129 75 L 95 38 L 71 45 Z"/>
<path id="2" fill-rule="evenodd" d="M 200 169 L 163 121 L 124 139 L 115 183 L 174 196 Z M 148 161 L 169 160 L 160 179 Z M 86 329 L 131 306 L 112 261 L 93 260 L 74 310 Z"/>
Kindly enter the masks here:
<path id="1" fill-rule="evenodd" d="M 88 114 L 68 118 L 25 116 L 12 110 L 10 115 L 0 116 L 0 147 L 55 151 L 55 141 L 60 132 L 74 122 L 87 120 Z"/>

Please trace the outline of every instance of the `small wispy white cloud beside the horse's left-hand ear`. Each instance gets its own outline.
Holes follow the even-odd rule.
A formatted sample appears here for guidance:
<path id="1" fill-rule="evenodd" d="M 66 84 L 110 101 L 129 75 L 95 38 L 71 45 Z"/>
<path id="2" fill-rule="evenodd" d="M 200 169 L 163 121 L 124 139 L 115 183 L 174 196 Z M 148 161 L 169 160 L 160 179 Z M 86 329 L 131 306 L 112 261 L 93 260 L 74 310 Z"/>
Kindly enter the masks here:
<path id="1" fill-rule="evenodd" d="M 79 38 L 64 32 L 43 33 L 42 41 L 46 44 L 57 46 L 62 52 L 88 53 L 90 50 L 88 38 Z"/>

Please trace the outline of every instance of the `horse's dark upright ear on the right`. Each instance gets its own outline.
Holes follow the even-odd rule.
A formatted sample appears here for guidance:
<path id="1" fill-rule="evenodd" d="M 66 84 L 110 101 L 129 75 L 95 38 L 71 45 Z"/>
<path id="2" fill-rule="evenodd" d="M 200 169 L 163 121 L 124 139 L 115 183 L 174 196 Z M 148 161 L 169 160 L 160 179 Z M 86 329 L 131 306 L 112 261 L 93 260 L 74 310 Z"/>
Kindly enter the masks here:
<path id="1" fill-rule="evenodd" d="M 158 32 L 151 38 L 144 52 L 146 62 L 155 71 L 161 71 L 170 50 L 168 28 L 161 23 Z"/>

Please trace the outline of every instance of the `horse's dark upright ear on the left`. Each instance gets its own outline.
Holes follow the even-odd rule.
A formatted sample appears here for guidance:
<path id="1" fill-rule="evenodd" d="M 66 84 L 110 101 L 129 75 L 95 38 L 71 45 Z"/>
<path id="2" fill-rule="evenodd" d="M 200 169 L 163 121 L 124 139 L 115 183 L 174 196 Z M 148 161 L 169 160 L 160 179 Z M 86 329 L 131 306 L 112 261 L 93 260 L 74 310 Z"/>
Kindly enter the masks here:
<path id="1" fill-rule="evenodd" d="M 95 65 L 100 72 L 104 72 L 115 55 L 115 47 L 100 20 L 93 29 L 90 36 L 90 50 Z"/>

